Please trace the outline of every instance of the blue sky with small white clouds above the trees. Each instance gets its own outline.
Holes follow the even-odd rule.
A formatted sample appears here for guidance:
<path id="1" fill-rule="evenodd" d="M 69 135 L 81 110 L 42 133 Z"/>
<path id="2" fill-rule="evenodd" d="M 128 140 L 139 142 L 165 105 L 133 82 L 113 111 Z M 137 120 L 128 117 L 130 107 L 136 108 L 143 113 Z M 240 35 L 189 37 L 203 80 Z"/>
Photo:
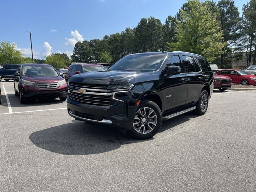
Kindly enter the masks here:
<path id="1" fill-rule="evenodd" d="M 235 0 L 240 14 L 249 0 Z M 186 0 L 0 0 L 0 42 L 15 42 L 34 58 L 73 52 L 74 43 L 134 28 L 141 18 L 165 22 Z M 217 2 L 217 1 L 216 1 Z"/>

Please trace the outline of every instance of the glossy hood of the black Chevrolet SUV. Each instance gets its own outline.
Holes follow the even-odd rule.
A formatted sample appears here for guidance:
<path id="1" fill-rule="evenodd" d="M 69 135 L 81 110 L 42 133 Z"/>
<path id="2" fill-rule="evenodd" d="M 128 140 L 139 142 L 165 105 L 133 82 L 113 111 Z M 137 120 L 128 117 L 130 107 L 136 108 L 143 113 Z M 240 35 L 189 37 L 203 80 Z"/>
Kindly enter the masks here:
<path id="1" fill-rule="evenodd" d="M 138 76 L 148 76 L 153 72 L 138 71 L 97 71 L 73 75 L 70 82 L 84 84 L 132 84 Z"/>

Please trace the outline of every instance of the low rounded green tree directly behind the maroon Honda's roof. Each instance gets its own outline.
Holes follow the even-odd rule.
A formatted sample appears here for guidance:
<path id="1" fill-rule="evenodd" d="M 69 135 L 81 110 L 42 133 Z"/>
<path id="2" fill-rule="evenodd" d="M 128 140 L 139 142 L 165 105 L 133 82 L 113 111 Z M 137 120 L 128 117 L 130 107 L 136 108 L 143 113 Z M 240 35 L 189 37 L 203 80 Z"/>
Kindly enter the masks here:
<path id="1" fill-rule="evenodd" d="M 49 56 L 46 56 L 46 61 L 45 63 L 46 64 L 50 64 L 52 65 L 53 67 L 60 67 L 60 68 L 64 68 L 64 67 L 67 67 L 67 63 L 70 64 L 70 61 L 68 62 L 68 60 L 70 60 L 68 58 L 66 58 L 65 56 L 66 54 L 59 54 L 59 53 L 53 53 L 53 54 L 50 54 Z"/>

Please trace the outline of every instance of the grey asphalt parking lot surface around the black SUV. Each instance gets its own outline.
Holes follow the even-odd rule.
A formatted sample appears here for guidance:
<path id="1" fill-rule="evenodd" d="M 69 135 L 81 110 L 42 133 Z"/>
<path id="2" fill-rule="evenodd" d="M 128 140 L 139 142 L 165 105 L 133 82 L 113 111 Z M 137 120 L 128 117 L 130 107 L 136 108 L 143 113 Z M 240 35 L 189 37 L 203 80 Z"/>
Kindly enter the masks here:
<path id="1" fill-rule="evenodd" d="M 0 191 L 256 191 L 256 91 L 214 91 L 204 116 L 134 140 L 1 89 Z"/>

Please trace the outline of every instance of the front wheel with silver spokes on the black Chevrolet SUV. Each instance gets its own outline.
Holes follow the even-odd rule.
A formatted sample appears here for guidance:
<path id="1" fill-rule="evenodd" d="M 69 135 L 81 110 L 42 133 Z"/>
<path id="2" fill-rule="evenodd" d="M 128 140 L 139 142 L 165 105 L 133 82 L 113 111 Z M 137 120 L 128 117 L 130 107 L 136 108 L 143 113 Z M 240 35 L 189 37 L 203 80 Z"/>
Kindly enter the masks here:
<path id="1" fill-rule="evenodd" d="M 136 139 L 153 137 L 162 125 L 162 112 L 158 105 L 150 100 L 142 100 L 134 116 L 132 129 L 128 130 L 128 134 Z"/>

